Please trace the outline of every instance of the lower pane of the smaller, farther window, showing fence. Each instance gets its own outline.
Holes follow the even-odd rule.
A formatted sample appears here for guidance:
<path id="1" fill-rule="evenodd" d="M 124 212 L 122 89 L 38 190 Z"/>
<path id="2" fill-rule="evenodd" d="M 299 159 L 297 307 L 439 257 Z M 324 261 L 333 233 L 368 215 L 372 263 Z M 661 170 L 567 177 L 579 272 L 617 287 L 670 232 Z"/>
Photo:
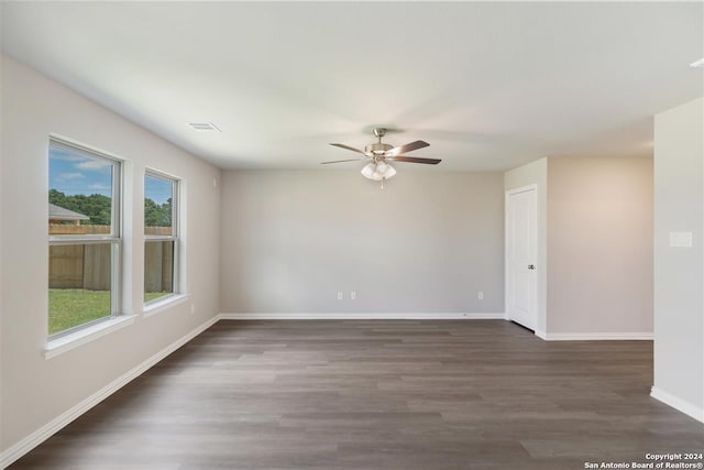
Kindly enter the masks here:
<path id="1" fill-rule="evenodd" d="M 144 243 L 144 302 L 174 293 L 174 241 Z"/>

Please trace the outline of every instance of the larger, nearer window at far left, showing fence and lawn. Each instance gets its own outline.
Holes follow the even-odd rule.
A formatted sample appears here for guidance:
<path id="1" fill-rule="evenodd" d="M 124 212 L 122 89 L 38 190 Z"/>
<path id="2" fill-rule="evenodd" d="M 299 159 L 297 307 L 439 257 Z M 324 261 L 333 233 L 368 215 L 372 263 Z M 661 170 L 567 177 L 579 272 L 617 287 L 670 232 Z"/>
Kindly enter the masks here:
<path id="1" fill-rule="evenodd" d="M 50 337 L 114 317 L 119 311 L 120 177 L 118 160 L 50 140 Z"/>

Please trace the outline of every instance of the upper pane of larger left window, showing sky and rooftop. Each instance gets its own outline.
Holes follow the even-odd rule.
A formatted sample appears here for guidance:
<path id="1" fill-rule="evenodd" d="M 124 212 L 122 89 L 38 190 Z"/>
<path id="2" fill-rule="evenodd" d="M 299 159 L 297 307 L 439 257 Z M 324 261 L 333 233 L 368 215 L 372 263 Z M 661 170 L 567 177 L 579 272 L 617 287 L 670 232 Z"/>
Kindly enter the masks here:
<path id="1" fill-rule="evenodd" d="M 48 233 L 110 234 L 117 163 L 78 149 L 50 144 Z"/>

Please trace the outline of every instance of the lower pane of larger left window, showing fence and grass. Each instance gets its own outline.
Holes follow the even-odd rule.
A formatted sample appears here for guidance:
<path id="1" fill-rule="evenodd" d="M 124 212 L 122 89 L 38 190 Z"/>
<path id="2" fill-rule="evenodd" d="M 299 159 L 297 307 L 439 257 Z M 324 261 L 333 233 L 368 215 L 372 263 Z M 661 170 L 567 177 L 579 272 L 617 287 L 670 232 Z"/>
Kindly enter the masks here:
<path id="1" fill-rule="evenodd" d="M 111 243 L 51 245 L 48 266 L 50 335 L 111 315 Z"/>

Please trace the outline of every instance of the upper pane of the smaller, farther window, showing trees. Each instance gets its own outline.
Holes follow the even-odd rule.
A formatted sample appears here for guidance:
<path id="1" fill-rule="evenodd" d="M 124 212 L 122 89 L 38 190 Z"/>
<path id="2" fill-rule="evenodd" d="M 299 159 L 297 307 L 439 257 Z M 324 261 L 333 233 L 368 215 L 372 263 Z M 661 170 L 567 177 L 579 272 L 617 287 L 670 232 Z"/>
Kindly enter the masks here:
<path id="1" fill-rule="evenodd" d="M 144 234 L 173 236 L 174 182 L 144 176 Z"/>

